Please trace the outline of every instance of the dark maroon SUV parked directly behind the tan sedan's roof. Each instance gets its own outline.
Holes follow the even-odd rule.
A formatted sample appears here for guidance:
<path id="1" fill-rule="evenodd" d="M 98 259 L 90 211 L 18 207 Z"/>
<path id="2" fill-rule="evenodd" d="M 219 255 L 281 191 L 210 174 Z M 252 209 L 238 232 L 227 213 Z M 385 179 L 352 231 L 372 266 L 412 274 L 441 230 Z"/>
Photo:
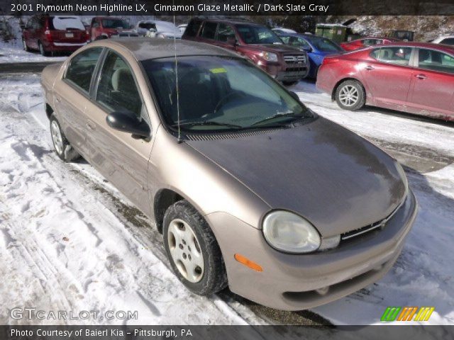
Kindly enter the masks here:
<path id="1" fill-rule="evenodd" d="M 297 83 L 309 73 L 306 52 L 284 45 L 276 33 L 257 23 L 194 18 L 183 39 L 206 42 L 244 55 L 286 85 Z"/>

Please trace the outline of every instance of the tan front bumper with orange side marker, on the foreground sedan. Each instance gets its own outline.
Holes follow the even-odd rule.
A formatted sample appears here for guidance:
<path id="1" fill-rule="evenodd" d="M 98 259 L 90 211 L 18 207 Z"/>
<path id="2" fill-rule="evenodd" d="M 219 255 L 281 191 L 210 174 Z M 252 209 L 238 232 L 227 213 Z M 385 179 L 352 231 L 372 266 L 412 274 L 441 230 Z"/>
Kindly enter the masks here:
<path id="1" fill-rule="evenodd" d="M 272 249 L 262 231 L 224 212 L 206 215 L 226 263 L 233 293 L 279 310 L 304 310 L 337 300 L 379 280 L 397 260 L 416 218 L 409 192 L 384 229 L 312 254 Z M 262 266 L 253 271 L 234 259 L 241 254 Z"/>

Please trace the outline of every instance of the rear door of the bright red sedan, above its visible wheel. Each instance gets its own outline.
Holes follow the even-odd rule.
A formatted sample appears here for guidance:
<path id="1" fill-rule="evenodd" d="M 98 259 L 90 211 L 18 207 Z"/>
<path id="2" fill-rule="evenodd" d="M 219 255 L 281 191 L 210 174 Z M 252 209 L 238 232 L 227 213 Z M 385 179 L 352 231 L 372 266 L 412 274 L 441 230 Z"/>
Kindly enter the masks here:
<path id="1" fill-rule="evenodd" d="M 402 110 L 408 101 L 413 54 L 412 47 L 382 45 L 358 63 L 369 91 L 367 99 L 377 106 Z"/>

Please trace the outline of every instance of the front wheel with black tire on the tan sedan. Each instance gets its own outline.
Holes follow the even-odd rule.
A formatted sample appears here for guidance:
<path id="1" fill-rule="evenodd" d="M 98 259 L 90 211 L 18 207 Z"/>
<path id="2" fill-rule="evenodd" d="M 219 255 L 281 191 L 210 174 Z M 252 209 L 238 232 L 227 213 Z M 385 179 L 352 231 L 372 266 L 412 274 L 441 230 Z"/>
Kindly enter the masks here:
<path id="1" fill-rule="evenodd" d="M 226 266 L 218 242 L 204 217 L 187 200 L 167 209 L 162 231 L 167 259 L 192 293 L 206 296 L 226 288 Z"/>

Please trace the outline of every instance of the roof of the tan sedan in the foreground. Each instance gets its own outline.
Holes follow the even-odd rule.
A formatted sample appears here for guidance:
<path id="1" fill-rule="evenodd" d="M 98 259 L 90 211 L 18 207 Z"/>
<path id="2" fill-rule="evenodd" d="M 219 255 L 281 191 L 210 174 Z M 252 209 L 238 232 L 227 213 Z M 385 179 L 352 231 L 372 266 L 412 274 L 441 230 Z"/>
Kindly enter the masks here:
<path id="1" fill-rule="evenodd" d="M 175 45 L 177 50 L 177 56 L 189 56 L 189 55 L 216 55 L 225 57 L 240 57 L 236 53 L 224 50 L 221 47 L 214 45 L 205 44 L 203 42 L 194 42 L 190 40 L 173 40 L 173 39 L 162 39 L 162 38 L 113 38 L 97 40 L 92 42 L 90 45 L 101 45 L 109 47 L 109 45 L 121 45 L 129 50 L 135 59 L 150 60 L 165 57 L 175 56 Z M 113 46 L 112 46 L 113 47 Z"/>

